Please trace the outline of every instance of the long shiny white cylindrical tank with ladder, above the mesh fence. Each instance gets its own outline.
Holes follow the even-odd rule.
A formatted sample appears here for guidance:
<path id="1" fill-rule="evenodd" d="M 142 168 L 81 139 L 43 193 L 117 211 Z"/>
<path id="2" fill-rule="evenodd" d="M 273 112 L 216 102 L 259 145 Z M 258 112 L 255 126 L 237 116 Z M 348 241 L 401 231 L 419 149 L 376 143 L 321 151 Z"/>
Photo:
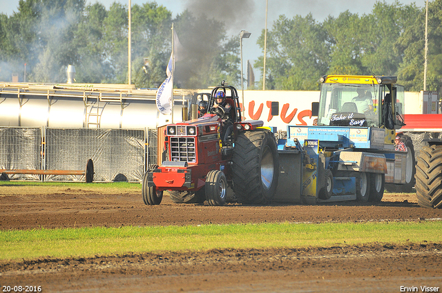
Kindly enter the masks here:
<path id="1" fill-rule="evenodd" d="M 171 123 L 158 114 L 156 90 L 134 85 L 0 83 L 0 126 L 49 128 L 157 128 Z M 174 90 L 173 121 L 192 93 Z"/>

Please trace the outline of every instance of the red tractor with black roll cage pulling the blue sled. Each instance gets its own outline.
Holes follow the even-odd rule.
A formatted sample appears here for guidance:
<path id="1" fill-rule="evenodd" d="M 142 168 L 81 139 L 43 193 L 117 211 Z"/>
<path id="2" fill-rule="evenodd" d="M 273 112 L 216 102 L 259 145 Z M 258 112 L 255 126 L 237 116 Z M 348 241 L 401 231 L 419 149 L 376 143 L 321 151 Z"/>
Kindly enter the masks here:
<path id="1" fill-rule="evenodd" d="M 229 111 L 217 110 L 216 97 Z M 218 112 L 217 114 L 211 114 Z M 203 117 L 166 125 L 169 158 L 144 174 L 146 205 L 158 205 L 164 190 L 175 203 L 224 205 L 231 187 L 240 203 L 267 204 L 278 184 L 278 150 L 262 121 L 242 121 L 236 88 L 215 87 Z"/>

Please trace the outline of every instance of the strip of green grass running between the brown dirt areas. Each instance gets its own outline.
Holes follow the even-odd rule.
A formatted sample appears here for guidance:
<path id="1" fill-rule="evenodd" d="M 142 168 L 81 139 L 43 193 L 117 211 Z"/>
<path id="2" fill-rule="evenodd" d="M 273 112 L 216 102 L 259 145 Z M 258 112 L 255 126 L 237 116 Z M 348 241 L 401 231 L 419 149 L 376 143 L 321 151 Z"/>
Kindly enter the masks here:
<path id="1" fill-rule="evenodd" d="M 442 242 L 442 221 L 262 223 L 0 231 L 0 259 L 89 257 L 215 248 Z"/>

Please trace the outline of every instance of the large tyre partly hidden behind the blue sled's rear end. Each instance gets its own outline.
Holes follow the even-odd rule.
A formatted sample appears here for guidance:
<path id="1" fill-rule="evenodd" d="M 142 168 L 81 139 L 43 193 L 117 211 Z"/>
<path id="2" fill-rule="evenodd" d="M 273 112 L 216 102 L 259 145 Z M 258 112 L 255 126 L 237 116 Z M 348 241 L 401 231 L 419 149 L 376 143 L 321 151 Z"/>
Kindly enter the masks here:
<path id="1" fill-rule="evenodd" d="M 416 184 L 414 175 L 416 174 L 416 159 L 414 159 L 414 145 L 412 139 L 403 135 L 401 141 L 407 147 L 407 170 L 405 171 L 405 184 L 385 184 L 387 192 L 414 192 L 413 187 Z"/>

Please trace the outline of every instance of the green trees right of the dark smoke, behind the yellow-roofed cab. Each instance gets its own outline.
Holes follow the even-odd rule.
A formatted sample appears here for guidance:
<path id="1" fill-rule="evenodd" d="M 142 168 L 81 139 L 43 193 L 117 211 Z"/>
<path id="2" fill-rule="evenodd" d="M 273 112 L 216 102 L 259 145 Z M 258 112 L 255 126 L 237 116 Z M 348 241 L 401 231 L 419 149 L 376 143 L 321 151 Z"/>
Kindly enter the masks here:
<path id="1" fill-rule="evenodd" d="M 442 0 L 435 0 L 428 7 L 427 90 L 440 89 L 441 34 Z M 264 48 L 264 34 L 258 43 Z M 324 74 L 375 74 L 423 90 L 424 47 L 425 8 L 414 3 L 376 1 L 367 14 L 345 11 L 322 23 L 311 14 L 281 15 L 267 32 L 266 88 L 317 90 Z M 255 67 L 263 67 L 263 57 Z"/>

